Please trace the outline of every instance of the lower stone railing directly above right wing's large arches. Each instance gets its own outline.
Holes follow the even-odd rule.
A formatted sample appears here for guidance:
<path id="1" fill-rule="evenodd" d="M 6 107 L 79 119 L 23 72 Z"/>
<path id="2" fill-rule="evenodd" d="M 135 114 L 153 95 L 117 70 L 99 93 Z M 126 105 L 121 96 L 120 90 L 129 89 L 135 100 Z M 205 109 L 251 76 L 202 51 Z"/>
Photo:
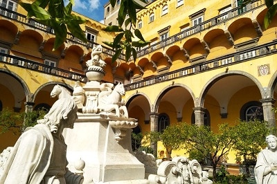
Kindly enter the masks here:
<path id="1" fill-rule="evenodd" d="M 150 77 L 147 80 L 141 80 L 139 82 L 133 82 L 132 84 L 126 84 L 125 91 L 139 89 L 143 86 L 157 84 L 159 82 L 173 80 L 179 77 L 186 77 L 189 75 L 199 74 L 216 68 L 238 64 L 240 62 L 247 62 L 249 61 L 249 59 L 253 59 L 253 58 L 273 55 L 277 53 L 276 46 L 277 46 L 277 40 L 274 40 L 269 44 L 251 47 L 247 50 L 240 50 L 230 55 L 224 55 L 220 58 L 211 59 L 199 64 L 193 64 L 192 66 L 181 68 L 177 71 L 171 71 L 163 75 Z"/>

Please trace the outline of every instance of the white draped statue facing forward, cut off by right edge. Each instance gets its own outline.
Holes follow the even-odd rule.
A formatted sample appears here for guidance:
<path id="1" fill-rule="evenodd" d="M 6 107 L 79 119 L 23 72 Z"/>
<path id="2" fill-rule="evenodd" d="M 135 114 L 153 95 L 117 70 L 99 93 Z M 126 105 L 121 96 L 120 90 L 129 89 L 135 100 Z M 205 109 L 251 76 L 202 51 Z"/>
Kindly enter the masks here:
<path id="1" fill-rule="evenodd" d="M 255 166 L 255 178 L 258 184 L 277 183 L 277 138 L 266 138 L 267 148 L 260 151 Z"/>

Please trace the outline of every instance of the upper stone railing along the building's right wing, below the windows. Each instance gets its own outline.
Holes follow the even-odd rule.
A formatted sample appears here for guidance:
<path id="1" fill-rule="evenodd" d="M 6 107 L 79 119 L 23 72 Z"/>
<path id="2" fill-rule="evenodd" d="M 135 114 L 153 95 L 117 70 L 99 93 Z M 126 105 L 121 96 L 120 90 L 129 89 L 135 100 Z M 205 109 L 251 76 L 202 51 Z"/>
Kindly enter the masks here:
<path id="1" fill-rule="evenodd" d="M 220 15 L 217 15 L 216 17 L 213 17 L 212 19 L 208 19 L 207 21 L 202 22 L 202 24 L 198 24 L 197 26 L 193 26 L 184 30 L 183 32 L 173 35 L 172 37 L 168 37 L 161 42 L 157 42 L 156 44 L 153 44 L 146 48 L 141 48 L 141 50 L 137 50 L 137 57 L 148 55 L 155 50 L 159 50 L 160 48 L 164 48 L 166 46 L 174 44 L 175 42 L 179 42 L 180 40 L 185 39 L 186 37 L 189 37 L 191 35 L 195 35 L 203 30 L 212 28 L 213 26 L 224 24 L 224 22 L 229 21 L 230 19 L 242 16 L 247 12 L 251 12 L 257 8 L 260 8 L 261 6 L 265 6 L 265 0 L 253 1 L 252 3 L 247 4 L 247 6 L 245 6 L 244 8 L 233 8 L 228 12 L 224 12 Z"/>

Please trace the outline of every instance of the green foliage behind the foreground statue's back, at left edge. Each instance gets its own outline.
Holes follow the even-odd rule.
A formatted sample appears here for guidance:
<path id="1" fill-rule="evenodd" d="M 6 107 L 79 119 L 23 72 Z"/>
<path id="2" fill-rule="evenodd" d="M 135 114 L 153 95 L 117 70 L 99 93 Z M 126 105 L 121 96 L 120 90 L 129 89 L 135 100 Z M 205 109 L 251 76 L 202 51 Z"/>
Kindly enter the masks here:
<path id="1" fill-rule="evenodd" d="M 5 108 L 0 112 L 0 134 L 5 134 L 7 131 L 21 134 L 27 127 L 37 124 L 37 120 L 43 118 L 45 113 L 44 110 L 16 113 Z"/>

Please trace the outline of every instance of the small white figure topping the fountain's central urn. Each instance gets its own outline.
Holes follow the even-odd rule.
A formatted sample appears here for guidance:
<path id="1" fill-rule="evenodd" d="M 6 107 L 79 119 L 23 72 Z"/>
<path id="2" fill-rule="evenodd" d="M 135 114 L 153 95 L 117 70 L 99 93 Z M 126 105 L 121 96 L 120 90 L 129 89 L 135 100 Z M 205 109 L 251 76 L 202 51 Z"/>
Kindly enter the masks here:
<path id="1" fill-rule="evenodd" d="M 101 68 L 106 66 L 106 63 L 100 57 L 102 50 L 103 48 L 101 45 L 92 48 L 91 59 L 86 62 L 88 70 L 91 70 L 91 68 L 94 68 L 95 66 L 100 66 Z"/>

